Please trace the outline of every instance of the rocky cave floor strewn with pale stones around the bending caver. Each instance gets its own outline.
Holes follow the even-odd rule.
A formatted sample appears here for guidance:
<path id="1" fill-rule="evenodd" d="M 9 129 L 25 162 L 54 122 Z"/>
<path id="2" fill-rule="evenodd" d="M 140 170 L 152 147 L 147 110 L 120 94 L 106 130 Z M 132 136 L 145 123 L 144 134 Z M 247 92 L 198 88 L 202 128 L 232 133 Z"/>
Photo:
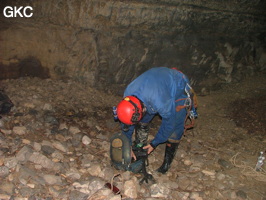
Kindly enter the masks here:
<path id="1" fill-rule="evenodd" d="M 1 88 L 14 103 L 0 119 L 0 199 L 266 199 L 266 79 L 248 77 L 199 94 L 199 118 L 166 175 L 156 173 L 164 145 L 149 156 L 155 183 L 110 166 L 118 132 L 112 106 L 121 99 L 74 81 L 20 78 Z M 151 123 L 149 139 L 160 125 Z M 120 189 L 115 195 L 104 185 Z"/>

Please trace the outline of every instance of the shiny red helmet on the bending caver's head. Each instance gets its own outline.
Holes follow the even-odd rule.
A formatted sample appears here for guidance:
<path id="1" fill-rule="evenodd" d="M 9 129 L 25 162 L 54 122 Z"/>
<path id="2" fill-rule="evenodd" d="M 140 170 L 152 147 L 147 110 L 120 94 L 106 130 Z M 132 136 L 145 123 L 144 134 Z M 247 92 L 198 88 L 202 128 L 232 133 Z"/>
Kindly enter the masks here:
<path id="1" fill-rule="evenodd" d="M 127 125 L 132 125 L 142 118 L 142 105 L 134 96 L 125 97 L 117 106 L 118 119 Z"/>

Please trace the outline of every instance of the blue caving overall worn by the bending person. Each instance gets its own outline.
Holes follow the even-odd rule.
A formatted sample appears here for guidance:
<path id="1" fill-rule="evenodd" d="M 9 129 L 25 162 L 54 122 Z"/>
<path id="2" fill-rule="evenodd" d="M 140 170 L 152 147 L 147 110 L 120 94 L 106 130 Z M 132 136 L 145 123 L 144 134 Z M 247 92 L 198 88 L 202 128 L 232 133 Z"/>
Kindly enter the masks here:
<path id="1" fill-rule="evenodd" d="M 168 139 L 181 139 L 184 133 L 187 111 L 181 109 L 177 112 L 176 107 L 184 105 L 185 100 L 180 99 L 188 97 L 185 92 L 186 87 L 190 87 L 188 78 L 182 72 L 166 67 L 152 68 L 127 86 L 124 97 L 136 96 L 147 109 L 140 122 L 148 123 L 156 114 L 162 117 L 161 126 L 155 138 L 151 141 L 154 147 Z M 190 88 L 186 89 L 190 90 Z M 130 141 L 134 128 L 135 125 L 131 125 L 128 131 L 123 131 Z"/>

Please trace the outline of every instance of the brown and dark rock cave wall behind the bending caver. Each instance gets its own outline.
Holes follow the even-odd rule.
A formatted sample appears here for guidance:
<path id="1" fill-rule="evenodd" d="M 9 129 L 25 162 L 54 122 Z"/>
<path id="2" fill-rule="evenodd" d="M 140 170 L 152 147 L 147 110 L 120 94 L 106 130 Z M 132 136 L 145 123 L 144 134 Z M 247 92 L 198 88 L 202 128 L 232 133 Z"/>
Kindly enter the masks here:
<path id="1" fill-rule="evenodd" d="M 0 68 L 13 69 L 2 78 L 36 60 L 51 78 L 98 88 L 124 87 L 154 66 L 177 67 L 201 87 L 265 72 L 264 0 L 1 2 L 2 11 L 33 8 L 31 18 L 1 13 Z"/>

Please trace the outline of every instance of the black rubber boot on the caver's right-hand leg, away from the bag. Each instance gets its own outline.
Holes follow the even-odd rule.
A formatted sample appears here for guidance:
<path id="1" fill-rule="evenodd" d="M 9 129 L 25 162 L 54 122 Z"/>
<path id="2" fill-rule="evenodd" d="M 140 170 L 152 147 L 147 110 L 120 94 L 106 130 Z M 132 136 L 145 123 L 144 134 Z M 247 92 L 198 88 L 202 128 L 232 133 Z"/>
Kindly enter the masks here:
<path id="1" fill-rule="evenodd" d="M 166 142 L 164 161 L 162 166 L 157 169 L 158 172 L 165 174 L 168 171 L 174 159 L 178 145 L 179 143 Z"/>

